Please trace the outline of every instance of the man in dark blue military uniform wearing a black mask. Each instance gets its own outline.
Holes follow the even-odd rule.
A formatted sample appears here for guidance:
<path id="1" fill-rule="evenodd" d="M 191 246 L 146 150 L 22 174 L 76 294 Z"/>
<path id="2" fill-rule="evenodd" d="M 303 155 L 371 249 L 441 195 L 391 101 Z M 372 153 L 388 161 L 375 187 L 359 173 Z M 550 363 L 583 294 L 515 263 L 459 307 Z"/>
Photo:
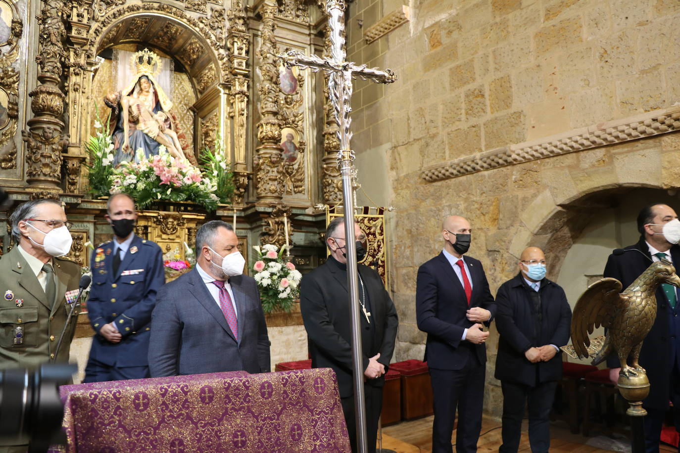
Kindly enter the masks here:
<path id="1" fill-rule="evenodd" d="M 83 382 L 149 377 L 151 312 L 156 291 L 165 284 L 160 247 L 133 233 L 135 200 L 116 194 L 109 198 L 107 211 L 114 239 L 99 245 L 90 259 L 87 305 L 97 334 Z"/>

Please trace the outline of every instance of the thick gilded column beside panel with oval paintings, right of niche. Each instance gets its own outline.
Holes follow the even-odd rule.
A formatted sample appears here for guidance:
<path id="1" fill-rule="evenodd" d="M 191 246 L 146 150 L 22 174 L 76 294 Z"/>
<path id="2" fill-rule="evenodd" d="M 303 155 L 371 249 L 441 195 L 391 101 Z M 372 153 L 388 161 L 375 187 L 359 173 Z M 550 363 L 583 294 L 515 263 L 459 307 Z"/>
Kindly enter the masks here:
<path id="1" fill-rule="evenodd" d="M 258 203 L 278 202 L 284 195 L 284 174 L 282 166 L 281 122 L 277 118 L 278 61 L 277 42 L 274 36 L 276 22 L 274 15 L 277 4 L 265 1 L 260 6 L 262 14 L 262 43 L 256 52 L 260 62 L 262 79 L 258 86 L 260 94 L 260 115 L 257 137 L 260 147 L 255 158 L 255 185 Z"/>

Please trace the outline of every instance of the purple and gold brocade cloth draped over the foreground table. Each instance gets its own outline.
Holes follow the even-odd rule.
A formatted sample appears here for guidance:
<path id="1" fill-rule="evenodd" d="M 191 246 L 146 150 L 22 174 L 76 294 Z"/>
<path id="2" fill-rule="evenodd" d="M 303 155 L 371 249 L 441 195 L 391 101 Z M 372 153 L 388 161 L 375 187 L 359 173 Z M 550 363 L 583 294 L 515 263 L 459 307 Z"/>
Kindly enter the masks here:
<path id="1" fill-rule="evenodd" d="M 351 452 L 330 368 L 60 388 L 69 453 Z"/>

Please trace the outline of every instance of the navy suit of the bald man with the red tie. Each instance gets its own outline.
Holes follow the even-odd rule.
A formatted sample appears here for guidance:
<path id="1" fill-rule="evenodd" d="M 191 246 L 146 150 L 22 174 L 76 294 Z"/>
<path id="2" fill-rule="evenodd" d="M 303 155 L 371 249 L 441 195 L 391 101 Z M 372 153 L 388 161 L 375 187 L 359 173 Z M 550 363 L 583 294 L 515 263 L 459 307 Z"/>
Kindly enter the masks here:
<path id="1" fill-rule="evenodd" d="M 472 280 L 468 305 L 463 286 L 443 253 L 418 269 L 415 315 L 418 329 L 427 332 L 425 360 L 435 394 L 432 452 L 452 452 L 451 435 L 458 409 L 458 452 L 477 451 L 486 372 L 486 346 L 462 340 L 464 329 L 475 323 L 466 310 L 481 307 L 496 313 L 481 263 L 465 256 Z M 489 322 L 486 325 L 489 325 Z"/>

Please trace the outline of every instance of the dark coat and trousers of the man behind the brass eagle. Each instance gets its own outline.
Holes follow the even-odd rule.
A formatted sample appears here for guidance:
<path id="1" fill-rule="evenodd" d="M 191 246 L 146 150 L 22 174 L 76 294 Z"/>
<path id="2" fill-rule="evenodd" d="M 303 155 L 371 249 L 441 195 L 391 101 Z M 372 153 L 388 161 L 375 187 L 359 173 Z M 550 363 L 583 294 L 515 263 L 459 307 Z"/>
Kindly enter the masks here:
<path id="1" fill-rule="evenodd" d="M 641 237 L 637 244 L 626 247 L 626 250 L 632 249 L 641 251 L 651 259 L 644 237 Z M 680 247 L 677 245 L 670 247 L 670 258 L 676 270 L 680 268 Z M 651 264 L 650 259 L 645 259 L 636 251 L 618 256 L 609 255 L 604 276 L 616 278 L 625 290 L 645 272 Z M 677 289 L 675 293 L 677 296 Z M 680 301 L 680 297 L 677 296 L 677 300 Z M 668 401 L 673 401 L 675 426 L 676 429 L 680 428 L 680 303 L 675 309 L 671 308 L 659 285 L 656 289 L 656 307 L 656 320 L 645 338 L 639 359 L 649 378 L 649 396 L 643 401 L 643 407 L 647 409 L 645 443 L 648 452 L 659 450 L 661 424 L 668 410 Z M 615 355 L 608 357 L 607 366 L 619 367 L 619 359 Z"/>

